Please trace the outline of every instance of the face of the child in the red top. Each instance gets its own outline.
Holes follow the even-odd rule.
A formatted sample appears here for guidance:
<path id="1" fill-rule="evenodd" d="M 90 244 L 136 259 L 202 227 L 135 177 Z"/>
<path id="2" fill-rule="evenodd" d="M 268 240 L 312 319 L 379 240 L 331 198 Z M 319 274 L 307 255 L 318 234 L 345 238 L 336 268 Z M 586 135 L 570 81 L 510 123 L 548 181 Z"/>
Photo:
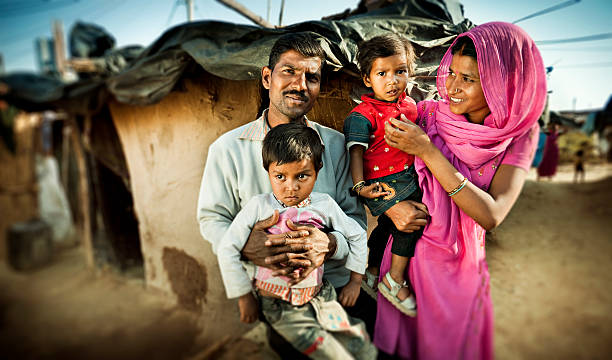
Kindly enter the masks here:
<path id="1" fill-rule="evenodd" d="M 370 73 L 363 77 L 363 82 L 372 88 L 376 99 L 397 100 L 408 85 L 406 53 L 376 58 Z"/>

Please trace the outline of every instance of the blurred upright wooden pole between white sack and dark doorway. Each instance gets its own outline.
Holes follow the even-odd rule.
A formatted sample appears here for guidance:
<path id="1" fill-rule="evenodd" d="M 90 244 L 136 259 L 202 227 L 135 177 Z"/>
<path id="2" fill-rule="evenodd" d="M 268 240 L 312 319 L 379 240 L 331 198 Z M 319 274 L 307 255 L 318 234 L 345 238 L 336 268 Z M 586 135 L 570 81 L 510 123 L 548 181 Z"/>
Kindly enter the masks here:
<path id="1" fill-rule="evenodd" d="M 81 143 L 78 127 L 74 118 L 70 118 L 72 127 L 71 139 L 74 155 L 76 157 L 77 168 L 79 170 L 79 207 L 81 212 L 81 239 L 85 250 L 85 261 L 90 268 L 94 267 L 93 240 L 91 234 L 91 215 L 89 208 L 89 179 L 87 177 L 87 160 L 85 150 Z"/>

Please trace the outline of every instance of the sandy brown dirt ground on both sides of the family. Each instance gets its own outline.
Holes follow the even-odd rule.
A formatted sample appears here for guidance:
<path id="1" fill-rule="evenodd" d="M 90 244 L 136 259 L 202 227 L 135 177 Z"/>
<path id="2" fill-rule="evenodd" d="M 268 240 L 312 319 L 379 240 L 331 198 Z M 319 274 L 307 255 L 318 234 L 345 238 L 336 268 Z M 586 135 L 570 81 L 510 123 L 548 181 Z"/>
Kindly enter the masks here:
<path id="1" fill-rule="evenodd" d="M 571 183 L 535 172 L 487 245 L 498 359 L 604 359 L 612 354 L 612 165 Z M 199 337 L 205 319 L 139 278 L 93 273 L 79 248 L 44 269 L 0 263 L 0 358 L 244 359 L 266 352 L 262 326 L 242 339 Z"/>

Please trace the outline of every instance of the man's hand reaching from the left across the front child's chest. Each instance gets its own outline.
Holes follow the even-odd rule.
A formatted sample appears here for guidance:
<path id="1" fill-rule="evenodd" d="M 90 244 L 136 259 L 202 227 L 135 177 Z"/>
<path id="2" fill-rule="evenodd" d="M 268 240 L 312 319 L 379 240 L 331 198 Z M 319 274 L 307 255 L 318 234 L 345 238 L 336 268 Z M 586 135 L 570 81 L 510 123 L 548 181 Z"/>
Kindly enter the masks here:
<path id="1" fill-rule="evenodd" d="M 268 234 L 265 230 L 278 222 L 278 210 L 267 219 L 258 221 L 253 226 L 251 234 L 247 239 L 246 244 L 242 248 L 242 256 L 258 266 L 277 270 L 281 269 L 282 261 L 269 261 L 268 258 L 276 256 L 292 254 L 291 257 L 296 257 L 297 254 L 304 253 L 312 248 L 307 241 L 304 241 L 302 236 L 307 236 L 305 231 L 291 231 L 284 234 Z M 280 255 L 279 255 L 280 254 Z"/>

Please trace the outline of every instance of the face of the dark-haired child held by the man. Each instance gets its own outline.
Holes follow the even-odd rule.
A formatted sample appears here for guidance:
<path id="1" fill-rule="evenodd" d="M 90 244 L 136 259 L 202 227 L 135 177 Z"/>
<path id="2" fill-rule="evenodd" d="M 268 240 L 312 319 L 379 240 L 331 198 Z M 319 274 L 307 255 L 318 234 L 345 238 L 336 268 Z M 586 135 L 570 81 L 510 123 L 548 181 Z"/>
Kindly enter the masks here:
<path id="1" fill-rule="evenodd" d="M 304 159 L 268 167 L 268 176 L 274 196 L 285 206 L 295 206 L 310 195 L 317 180 L 317 171 L 311 159 Z"/>

